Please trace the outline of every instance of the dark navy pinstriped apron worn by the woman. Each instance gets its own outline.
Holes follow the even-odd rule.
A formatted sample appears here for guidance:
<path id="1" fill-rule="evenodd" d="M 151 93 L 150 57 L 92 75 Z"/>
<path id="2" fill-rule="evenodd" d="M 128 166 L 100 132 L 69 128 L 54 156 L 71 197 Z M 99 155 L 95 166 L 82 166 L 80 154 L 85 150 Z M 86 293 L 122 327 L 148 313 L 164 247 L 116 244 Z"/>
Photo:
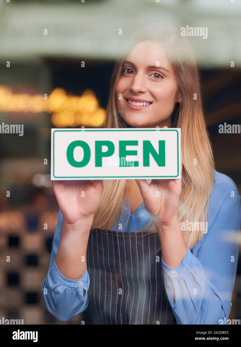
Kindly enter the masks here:
<path id="1" fill-rule="evenodd" d="M 164 288 L 157 234 L 91 229 L 85 324 L 177 324 Z"/>

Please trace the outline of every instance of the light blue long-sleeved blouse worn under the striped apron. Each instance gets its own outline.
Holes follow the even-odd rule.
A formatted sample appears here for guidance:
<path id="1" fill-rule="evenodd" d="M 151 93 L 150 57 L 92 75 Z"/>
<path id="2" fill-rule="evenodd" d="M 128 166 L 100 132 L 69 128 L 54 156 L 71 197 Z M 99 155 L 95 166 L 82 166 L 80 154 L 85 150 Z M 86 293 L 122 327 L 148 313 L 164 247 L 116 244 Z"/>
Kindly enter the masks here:
<path id="1" fill-rule="evenodd" d="M 226 324 L 231 311 L 239 255 L 241 196 L 231 178 L 217 171 L 214 171 L 214 176 L 215 184 L 208 205 L 210 219 L 203 239 L 191 251 L 187 248 L 182 263 L 176 268 L 165 264 L 161 257 L 164 286 L 177 324 Z M 122 213 L 127 213 L 128 217 L 128 225 L 122 231 L 141 229 L 151 220 L 144 203 L 133 214 L 128 204 Z M 47 289 L 44 300 L 48 311 L 61 322 L 66 322 L 87 307 L 90 280 L 87 269 L 81 278 L 71 280 L 64 277 L 56 266 L 62 220 L 59 210 L 42 293 Z M 118 225 L 113 230 L 118 231 Z M 86 290 L 84 297 L 83 289 Z"/>

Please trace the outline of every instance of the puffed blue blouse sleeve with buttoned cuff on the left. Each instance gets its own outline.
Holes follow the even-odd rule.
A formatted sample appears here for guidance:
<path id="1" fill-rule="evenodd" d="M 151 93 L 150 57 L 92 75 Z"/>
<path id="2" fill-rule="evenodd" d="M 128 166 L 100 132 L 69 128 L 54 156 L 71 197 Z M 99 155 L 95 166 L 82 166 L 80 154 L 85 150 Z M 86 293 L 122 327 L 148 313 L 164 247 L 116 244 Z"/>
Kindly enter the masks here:
<path id="1" fill-rule="evenodd" d="M 71 280 L 62 275 L 55 263 L 55 256 L 59 247 L 63 215 L 59 209 L 58 221 L 54 232 L 50 265 L 47 277 L 42 284 L 45 305 L 48 311 L 66 322 L 84 311 L 88 306 L 89 274 L 86 272 L 77 280 Z M 83 296 L 83 289 L 86 290 Z"/>

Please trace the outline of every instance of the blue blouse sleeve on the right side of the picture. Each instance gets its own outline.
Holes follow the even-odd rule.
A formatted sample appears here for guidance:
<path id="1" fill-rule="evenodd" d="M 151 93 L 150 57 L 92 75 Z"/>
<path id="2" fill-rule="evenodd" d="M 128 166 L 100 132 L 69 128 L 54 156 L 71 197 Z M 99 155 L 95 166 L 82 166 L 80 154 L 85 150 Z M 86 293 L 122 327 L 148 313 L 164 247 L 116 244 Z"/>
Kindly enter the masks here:
<path id="1" fill-rule="evenodd" d="M 164 286 L 177 324 L 226 324 L 229 319 L 239 256 L 241 197 L 231 179 L 219 196 L 221 203 L 216 198 L 212 202 L 217 211 L 197 256 L 187 248 L 176 268 L 162 259 Z"/>

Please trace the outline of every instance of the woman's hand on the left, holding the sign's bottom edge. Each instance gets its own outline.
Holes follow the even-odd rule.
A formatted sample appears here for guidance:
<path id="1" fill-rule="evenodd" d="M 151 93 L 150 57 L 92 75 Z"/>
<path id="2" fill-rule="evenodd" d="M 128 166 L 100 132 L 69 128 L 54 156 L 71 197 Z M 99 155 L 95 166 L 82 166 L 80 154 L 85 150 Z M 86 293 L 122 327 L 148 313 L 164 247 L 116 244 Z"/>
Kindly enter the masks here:
<path id="1" fill-rule="evenodd" d="M 54 180 L 53 191 L 65 224 L 93 218 L 103 191 L 103 180 Z"/>

